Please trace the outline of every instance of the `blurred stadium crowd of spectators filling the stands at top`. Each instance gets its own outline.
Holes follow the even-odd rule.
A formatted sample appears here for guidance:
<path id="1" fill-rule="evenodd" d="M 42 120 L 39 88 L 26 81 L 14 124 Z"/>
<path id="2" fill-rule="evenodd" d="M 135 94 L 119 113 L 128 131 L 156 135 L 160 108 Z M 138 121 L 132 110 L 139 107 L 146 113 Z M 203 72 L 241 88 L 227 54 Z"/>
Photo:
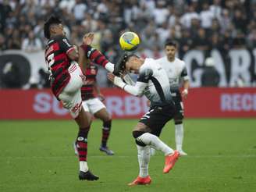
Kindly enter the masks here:
<path id="1" fill-rule="evenodd" d="M 159 58 L 168 38 L 179 42 L 179 55 L 196 48 L 208 54 L 256 46 L 255 0 L 0 0 L 0 52 L 44 49 L 44 19 L 56 14 L 66 35 L 80 44 L 94 32 L 95 48 L 115 62 L 119 35 L 140 35 L 140 55 Z"/>

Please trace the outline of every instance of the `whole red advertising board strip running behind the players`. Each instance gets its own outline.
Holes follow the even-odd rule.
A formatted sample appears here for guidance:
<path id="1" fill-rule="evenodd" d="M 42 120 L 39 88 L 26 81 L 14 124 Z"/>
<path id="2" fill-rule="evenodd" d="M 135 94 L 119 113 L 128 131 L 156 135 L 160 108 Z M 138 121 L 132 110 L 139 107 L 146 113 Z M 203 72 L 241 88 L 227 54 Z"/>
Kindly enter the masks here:
<path id="1" fill-rule="evenodd" d="M 101 92 L 115 119 L 138 119 L 148 111 L 146 98 L 133 97 L 118 88 Z M 1 90 L 0 106 L 0 119 L 71 118 L 50 90 Z M 184 108 L 186 117 L 256 117 L 256 89 L 191 88 Z"/>

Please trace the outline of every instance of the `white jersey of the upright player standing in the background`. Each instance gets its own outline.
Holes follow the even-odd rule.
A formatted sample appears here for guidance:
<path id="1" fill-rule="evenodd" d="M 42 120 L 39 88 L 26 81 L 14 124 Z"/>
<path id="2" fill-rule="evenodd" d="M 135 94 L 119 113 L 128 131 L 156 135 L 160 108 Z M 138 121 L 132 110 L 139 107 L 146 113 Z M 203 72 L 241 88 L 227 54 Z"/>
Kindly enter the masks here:
<path id="1" fill-rule="evenodd" d="M 157 59 L 157 62 L 165 69 L 171 90 L 179 89 L 181 80 L 189 80 L 186 65 L 183 60 L 175 58 L 173 62 L 169 62 L 165 56 Z"/>

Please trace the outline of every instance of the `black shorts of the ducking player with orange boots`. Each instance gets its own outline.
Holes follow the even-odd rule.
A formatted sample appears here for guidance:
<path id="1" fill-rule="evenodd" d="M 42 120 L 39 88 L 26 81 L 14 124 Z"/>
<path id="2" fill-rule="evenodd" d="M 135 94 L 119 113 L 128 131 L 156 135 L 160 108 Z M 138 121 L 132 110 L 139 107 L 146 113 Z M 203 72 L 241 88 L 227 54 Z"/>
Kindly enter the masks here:
<path id="1" fill-rule="evenodd" d="M 152 134 L 160 136 L 162 128 L 175 114 L 175 105 L 165 105 L 163 107 L 151 107 L 149 111 L 140 118 L 140 123 L 144 123 L 151 129 Z"/>

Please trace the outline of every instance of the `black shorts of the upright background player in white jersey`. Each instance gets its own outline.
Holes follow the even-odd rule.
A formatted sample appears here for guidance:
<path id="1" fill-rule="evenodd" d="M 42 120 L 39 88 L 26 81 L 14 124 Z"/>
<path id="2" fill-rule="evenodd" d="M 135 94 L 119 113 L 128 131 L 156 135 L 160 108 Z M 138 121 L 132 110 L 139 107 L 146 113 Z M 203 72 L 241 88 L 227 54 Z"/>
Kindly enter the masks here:
<path id="1" fill-rule="evenodd" d="M 181 98 L 180 91 L 171 91 L 172 92 L 172 99 L 175 103 L 176 112 L 174 115 L 174 119 L 183 119 L 184 117 L 184 108 L 183 108 L 183 101 Z"/>

